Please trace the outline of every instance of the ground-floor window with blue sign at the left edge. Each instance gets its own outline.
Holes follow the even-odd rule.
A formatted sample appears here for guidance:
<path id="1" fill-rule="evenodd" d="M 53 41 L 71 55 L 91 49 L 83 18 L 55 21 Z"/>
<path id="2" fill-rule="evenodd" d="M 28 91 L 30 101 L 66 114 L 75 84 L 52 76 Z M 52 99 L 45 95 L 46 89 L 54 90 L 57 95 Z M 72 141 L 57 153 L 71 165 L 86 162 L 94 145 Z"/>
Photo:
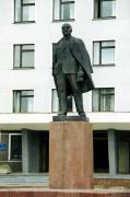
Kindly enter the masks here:
<path id="1" fill-rule="evenodd" d="M 21 131 L 0 131 L 0 174 L 22 172 Z"/>

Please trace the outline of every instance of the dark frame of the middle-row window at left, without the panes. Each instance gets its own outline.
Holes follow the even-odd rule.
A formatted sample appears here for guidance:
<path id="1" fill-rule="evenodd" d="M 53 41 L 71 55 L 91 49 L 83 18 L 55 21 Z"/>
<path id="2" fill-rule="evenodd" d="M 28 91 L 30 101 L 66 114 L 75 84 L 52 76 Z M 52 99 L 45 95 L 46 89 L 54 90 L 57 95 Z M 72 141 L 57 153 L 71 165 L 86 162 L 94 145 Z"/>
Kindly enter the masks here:
<path id="1" fill-rule="evenodd" d="M 34 46 L 34 49 L 22 49 L 24 46 Z M 20 62 L 19 67 L 15 67 L 15 46 L 20 46 Z M 23 53 L 34 53 L 34 66 L 32 67 L 24 67 L 22 66 L 22 54 Z M 19 70 L 19 69 L 34 69 L 35 68 L 35 44 L 15 44 L 13 45 L 13 69 Z"/>

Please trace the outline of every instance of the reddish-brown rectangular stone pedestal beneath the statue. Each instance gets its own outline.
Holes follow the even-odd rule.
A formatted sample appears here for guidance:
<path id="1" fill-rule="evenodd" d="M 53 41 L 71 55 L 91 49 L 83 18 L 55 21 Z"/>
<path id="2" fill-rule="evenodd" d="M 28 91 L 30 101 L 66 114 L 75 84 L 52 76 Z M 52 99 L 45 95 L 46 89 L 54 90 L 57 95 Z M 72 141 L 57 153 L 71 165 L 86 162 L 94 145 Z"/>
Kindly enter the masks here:
<path id="1" fill-rule="evenodd" d="M 49 187 L 92 188 L 92 124 L 54 121 L 49 130 Z"/>

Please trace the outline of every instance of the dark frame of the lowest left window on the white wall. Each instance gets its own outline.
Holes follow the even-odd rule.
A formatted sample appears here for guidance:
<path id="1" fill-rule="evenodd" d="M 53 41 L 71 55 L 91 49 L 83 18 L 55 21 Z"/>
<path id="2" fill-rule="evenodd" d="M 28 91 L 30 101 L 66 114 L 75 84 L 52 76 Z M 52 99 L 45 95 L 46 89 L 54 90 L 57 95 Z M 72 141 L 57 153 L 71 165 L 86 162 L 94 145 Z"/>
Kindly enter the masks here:
<path id="1" fill-rule="evenodd" d="M 33 93 L 34 93 L 34 90 L 13 90 L 13 113 L 21 113 L 21 114 L 29 114 L 29 113 L 33 113 L 34 112 L 34 109 L 33 109 L 33 112 L 22 112 L 22 97 L 33 97 L 34 99 L 34 94 L 33 95 L 27 95 L 27 96 L 25 96 L 25 95 L 22 95 L 22 92 L 23 91 L 33 91 Z M 20 95 L 20 108 L 17 109 L 15 109 L 15 94 L 19 94 Z M 17 96 L 17 95 L 16 95 Z M 16 97 L 16 101 L 17 101 L 17 97 Z M 33 108 L 34 108 L 34 106 L 33 106 Z M 16 111 L 16 112 L 15 112 Z"/>

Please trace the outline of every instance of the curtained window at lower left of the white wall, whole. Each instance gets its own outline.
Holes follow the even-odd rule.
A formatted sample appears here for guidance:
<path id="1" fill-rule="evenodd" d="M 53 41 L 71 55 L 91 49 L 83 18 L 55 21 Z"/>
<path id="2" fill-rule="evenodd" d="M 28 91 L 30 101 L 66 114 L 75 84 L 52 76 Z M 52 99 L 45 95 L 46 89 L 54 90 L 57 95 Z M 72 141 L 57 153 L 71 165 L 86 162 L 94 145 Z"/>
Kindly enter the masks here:
<path id="1" fill-rule="evenodd" d="M 13 91 L 13 112 L 32 113 L 34 107 L 34 91 Z"/>

